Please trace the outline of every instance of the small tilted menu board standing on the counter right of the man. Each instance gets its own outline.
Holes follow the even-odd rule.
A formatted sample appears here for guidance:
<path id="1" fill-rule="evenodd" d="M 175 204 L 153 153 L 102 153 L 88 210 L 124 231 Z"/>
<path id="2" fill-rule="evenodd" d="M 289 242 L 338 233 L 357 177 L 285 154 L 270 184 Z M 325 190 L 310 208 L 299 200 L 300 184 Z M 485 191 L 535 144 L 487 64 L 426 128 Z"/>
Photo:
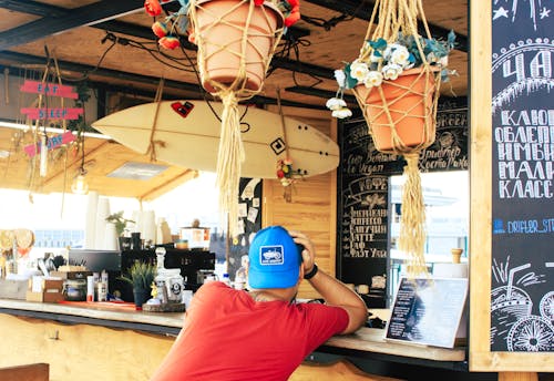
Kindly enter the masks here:
<path id="1" fill-rule="evenodd" d="M 453 348 L 468 285 L 465 278 L 400 279 L 386 339 Z"/>

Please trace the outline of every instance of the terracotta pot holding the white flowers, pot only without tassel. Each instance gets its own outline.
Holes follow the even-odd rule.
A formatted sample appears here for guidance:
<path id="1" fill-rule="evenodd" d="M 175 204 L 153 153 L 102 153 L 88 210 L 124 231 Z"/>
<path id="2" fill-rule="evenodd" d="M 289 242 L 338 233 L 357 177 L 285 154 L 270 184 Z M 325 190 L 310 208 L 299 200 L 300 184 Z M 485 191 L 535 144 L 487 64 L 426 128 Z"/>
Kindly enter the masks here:
<path id="1" fill-rule="evenodd" d="M 432 71 L 410 69 L 380 86 L 353 89 L 376 148 L 407 152 L 434 142 L 437 91 Z"/>

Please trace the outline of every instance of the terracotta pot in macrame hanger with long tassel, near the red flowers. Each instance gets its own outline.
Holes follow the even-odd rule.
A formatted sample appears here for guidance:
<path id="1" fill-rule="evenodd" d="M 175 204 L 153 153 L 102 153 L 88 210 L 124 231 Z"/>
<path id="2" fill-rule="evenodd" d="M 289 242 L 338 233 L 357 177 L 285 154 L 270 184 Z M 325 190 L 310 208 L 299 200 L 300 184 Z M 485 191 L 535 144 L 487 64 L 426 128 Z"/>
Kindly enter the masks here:
<path id="1" fill-rule="evenodd" d="M 284 17 L 270 2 L 193 0 L 189 18 L 202 85 L 223 102 L 216 185 L 222 220 L 229 222 L 229 237 L 235 237 L 245 159 L 238 102 L 261 90 L 284 32 Z"/>

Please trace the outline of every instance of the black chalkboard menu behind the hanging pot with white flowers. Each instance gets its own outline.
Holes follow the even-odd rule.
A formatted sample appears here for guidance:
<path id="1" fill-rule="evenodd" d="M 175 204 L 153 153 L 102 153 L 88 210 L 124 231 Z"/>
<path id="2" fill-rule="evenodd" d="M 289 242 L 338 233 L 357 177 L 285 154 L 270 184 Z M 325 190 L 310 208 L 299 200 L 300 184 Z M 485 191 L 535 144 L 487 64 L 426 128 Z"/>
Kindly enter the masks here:
<path id="1" fill-rule="evenodd" d="M 368 305 L 386 307 L 389 177 L 401 174 L 406 162 L 376 150 L 363 117 L 339 124 L 339 146 L 337 275 L 347 284 L 368 285 Z M 439 101 L 435 142 L 421 152 L 419 165 L 421 172 L 468 169 L 465 97 Z"/>

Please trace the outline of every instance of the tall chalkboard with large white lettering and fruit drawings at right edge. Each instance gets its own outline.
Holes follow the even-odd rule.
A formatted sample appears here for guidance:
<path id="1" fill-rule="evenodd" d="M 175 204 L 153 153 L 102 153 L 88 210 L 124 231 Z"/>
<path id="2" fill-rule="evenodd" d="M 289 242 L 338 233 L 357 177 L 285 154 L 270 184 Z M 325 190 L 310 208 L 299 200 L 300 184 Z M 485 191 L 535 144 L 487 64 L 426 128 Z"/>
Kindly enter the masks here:
<path id="1" fill-rule="evenodd" d="M 554 8 L 535 6 L 492 7 L 491 351 L 554 351 Z"/>

